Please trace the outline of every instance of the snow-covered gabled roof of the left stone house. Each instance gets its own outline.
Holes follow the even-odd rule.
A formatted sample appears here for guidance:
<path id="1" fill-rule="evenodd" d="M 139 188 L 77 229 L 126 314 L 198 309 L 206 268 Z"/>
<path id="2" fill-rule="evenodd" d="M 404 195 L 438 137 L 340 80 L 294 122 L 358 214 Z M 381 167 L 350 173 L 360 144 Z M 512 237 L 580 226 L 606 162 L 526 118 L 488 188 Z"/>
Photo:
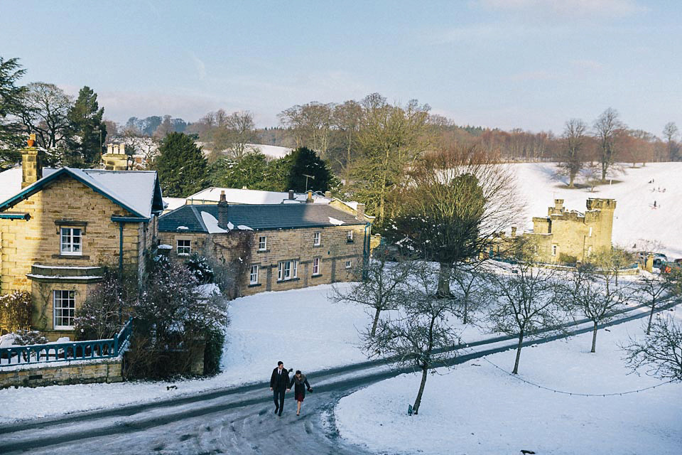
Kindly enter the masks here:
<path id="1" fill-rule="evenodd" d="M 152 213 L 160 213 L 163 210 L 161 186 L 158 184 L 156 171 L 43 168 L 43 178 L 22 190 L 21 179 L 17 180 L 15 175 L 21 174 L 21 168 L 17 169 L 18 171 L 9 169 L 9 171 L 0 173 L 0 186 L 3 186 L 4 189 L 3 196 L 13 195 L 0 203 L 0 211 L 12 207 L 33 193 L 37 193 L 43 186 L 62 175 L 71 176 L 84 183 L 139 218 L 151 218 Z"/>

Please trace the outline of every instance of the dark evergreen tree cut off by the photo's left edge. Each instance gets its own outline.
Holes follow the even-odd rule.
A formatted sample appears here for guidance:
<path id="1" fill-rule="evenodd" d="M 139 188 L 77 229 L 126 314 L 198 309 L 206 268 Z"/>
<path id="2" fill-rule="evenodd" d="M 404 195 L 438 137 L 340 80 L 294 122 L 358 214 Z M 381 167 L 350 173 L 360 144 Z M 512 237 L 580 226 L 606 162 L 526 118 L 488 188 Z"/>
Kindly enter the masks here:
<path id="1" fill-rule="evenodd" d="M 26 87 L 16 85 L 26 73 L 18 58 L 5 60 L 0 57 L 0 168 L 19 161 L 21 146 L 21 123 L 18 117 L 24 109 L 23 95 Z"/>

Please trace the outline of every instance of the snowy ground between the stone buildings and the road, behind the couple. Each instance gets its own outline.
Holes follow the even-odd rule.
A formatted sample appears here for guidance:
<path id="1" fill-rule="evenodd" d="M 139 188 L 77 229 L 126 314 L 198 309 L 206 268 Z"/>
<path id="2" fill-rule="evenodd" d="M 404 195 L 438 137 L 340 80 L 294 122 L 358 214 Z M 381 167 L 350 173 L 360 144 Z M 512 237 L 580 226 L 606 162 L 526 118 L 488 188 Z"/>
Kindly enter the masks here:
<path id="1" fill-rule="evenodd" d="M 350 284 L 339 284 L 341 289 Z M 330 285 L 263 292 L 230 302 L 232 325 L 222 357 L 222 373 L 178 382 L 55 385 L 0 390 L 0 422 L 94 410 L 188 395 L 204 390 L 270 380 L 282 360 L 287 368 L 308 372 L 367 360 L 358 331 L 371 321 L 364 309 L 332 304 Z M 475 328 L 467 341 L 483 337 Z M 178 388 L 167 390 L 168 385 Z"/>

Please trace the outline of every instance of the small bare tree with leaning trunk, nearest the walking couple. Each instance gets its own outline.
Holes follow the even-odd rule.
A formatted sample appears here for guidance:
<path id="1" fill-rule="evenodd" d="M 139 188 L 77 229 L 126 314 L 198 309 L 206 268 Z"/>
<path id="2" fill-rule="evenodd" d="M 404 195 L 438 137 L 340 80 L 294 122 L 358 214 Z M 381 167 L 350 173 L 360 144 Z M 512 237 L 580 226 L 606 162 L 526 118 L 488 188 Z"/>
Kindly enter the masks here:
<path id="1" fill-rule="evenodd" d="M 401 288 L 401 316 L 381 319 L 376 336 L 365 333 L 364 349 L 370 358 L 388 357 L 399 365 L 421 371 L 421 382 L 413 404 L 418 414 L 428 372 L 453 357 L 460 341 L 448 323 L 453 312 L 452 299 L 436 299 L 437 279 L 428 264 L 413 266 L 413 286 Z"/>

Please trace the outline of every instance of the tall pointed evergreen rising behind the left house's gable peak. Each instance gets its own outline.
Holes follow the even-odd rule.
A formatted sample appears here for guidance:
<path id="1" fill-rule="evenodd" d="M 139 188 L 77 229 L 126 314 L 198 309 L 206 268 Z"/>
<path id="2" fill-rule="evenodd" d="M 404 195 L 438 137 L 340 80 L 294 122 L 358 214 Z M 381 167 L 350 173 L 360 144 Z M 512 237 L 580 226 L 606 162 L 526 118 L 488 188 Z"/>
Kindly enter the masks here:
<path id="1" fill-rule="evenodd" d="M 97 104 L 97 93 L 83 87 L 68 113 L 70 134 L 65 166 L 91 167 L 99 163 L 107 127 L 102 123 L 104 107 Z M 100 137 L 101 134 L 101 137 Z"/>

